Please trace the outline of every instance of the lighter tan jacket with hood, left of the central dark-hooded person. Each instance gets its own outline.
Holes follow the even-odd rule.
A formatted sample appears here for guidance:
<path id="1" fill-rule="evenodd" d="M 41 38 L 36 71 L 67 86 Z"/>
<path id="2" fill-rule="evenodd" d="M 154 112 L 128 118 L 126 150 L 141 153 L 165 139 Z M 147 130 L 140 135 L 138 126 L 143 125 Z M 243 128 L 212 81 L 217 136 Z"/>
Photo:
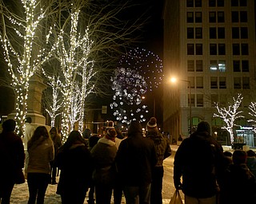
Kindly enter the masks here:
<path id="1" fill-rule="evenodd" d="M 114 186 L 116 167 L 114 163 L 117 154 L 115 143 L 106 138 L 98 140 L 91 150 L 94 161 L 93 180 L 95 183 Z"/>

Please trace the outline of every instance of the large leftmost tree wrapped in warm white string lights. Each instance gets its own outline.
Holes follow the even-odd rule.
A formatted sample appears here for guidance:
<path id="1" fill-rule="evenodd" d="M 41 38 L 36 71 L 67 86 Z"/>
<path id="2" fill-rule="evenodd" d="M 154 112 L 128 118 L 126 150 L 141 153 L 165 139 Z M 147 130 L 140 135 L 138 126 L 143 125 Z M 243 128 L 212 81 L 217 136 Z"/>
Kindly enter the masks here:
<path id="1" fill-rule="evenodd" d="M 21 1 L 21 5 L 15 10 L 17 11 L 15 14 L 9 10 L 9 6 L 0 2 L 2 17 L 0 40 L 12 79 L 11 85 L 16 94 L 15 119 L 19 135 L 23 135 L 25 128 L 29 80 L 52 56 L 58 44 L 56 42 L 51 45 L 51 49 L 47 52 L 42 47 L 47 42 L 47 36 L 42 35 L 40 23 L 46 17 L 49 7 L 42 6 L 43 4 L 36 0 L 24 0 Z"/>

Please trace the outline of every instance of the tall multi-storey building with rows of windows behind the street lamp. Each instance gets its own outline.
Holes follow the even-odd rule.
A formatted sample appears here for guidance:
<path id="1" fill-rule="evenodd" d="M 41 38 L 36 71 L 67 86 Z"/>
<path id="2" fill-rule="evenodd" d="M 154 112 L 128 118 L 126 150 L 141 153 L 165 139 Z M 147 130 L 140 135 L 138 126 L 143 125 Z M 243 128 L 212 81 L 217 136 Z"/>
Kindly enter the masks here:
<path id="1" fill-rule="evenodd" d="M 234 135 L 255 146 L 247 122 L 248 106 L 256 102 L 254 0 L 167 0 L 163 18 L 164 130 L 177 140 L 206 120 L 229 144 L 224 122 L 213 116 L 215 104 L 226 107 L 241 93 L 245 118 L 236 121 Z"/>

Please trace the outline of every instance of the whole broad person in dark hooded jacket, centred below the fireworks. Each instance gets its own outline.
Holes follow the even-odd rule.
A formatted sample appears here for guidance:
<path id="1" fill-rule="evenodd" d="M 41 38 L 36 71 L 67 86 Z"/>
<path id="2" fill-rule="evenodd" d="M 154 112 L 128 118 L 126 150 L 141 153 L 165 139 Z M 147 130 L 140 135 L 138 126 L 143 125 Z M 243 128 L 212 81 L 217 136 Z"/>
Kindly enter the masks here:
<path id="1" fill-rule="evenodd" d="M 153 141 L 142 135 L 138 120 L 130 123 L 128 137 L 119 145 L 116 163 L 126 203 L 150 203 L 150 184 L 157 155 Z"/>

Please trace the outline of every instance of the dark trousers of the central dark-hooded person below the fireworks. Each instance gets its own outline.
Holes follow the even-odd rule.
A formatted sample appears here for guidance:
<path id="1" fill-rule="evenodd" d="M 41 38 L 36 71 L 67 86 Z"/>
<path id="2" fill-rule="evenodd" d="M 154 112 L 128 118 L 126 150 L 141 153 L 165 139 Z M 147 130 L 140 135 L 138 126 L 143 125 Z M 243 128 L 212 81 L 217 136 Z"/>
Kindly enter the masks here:
<path id="1" fill-rule="evenodd" d="M 145 186 L 124 186 L 126 204 L 149 204 L 151 184 Z"/>

